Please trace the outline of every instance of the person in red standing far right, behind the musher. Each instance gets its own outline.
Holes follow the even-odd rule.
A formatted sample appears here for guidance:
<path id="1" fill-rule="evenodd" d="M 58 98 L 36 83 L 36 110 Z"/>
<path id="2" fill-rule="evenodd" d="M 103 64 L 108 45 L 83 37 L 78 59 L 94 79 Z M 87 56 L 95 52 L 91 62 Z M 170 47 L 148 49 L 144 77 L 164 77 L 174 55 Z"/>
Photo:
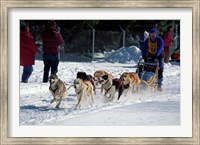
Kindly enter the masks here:
<path id="1" fill-rule="evenodd" d="M 165 53 L 165 58 L 164 62 L 168 63 L 169 58 L 170 58 L 170 47 L 172 46 L 173 43 L 173 26 L 168 26 L 167 27 L 167 32 L 164 33 L 163 39 L 164 39 L 164 53 Z"/>

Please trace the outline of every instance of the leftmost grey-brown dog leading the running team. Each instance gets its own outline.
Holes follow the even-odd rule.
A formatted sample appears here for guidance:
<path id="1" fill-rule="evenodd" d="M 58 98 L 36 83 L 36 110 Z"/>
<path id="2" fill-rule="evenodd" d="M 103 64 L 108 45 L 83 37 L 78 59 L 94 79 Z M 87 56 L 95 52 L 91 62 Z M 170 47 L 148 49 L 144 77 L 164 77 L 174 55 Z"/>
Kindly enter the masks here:
<path id="1" fill-rule="evenodd" d="M 65 84 L 58 78 L 56 74 L 52 74 L 49 79 L 49 91 L 53 95 L 51 103 L 56 101 L 56 108 L 59 108 L 61 100 L 67 94 Z"/>

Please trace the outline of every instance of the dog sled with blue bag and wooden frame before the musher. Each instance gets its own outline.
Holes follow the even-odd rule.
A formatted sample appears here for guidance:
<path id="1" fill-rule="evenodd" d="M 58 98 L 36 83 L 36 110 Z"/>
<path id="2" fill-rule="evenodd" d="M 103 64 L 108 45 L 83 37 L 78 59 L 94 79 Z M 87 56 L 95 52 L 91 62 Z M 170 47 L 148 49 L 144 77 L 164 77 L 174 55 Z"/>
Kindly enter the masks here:
<path id="1" fill-rule="evenodd" d="M 138 62 L 136 73 L 138 73 L 142 86 L 156 87 L 158 85 L 158 69 L 159 63 L 157 60 L 140 59 Z"/>

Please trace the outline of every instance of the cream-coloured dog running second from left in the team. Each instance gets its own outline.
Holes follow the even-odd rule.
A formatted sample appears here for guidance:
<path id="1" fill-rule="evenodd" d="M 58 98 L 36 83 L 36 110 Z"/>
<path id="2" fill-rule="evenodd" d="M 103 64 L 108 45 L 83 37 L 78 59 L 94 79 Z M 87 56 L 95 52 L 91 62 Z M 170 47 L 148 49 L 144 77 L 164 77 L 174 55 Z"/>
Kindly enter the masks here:
<path id="1" fill-rule="evenodd" d="M 80 78 L 76 78 L 74 80 L 74 89 L 78 98 L 76 108 L 81 107 L 83 97 L 86 97 L 87 99 L 87 97 L 91 96 L 92 102 L 94 103 L 94 88 L 90 81 L 83 81 Z"/>

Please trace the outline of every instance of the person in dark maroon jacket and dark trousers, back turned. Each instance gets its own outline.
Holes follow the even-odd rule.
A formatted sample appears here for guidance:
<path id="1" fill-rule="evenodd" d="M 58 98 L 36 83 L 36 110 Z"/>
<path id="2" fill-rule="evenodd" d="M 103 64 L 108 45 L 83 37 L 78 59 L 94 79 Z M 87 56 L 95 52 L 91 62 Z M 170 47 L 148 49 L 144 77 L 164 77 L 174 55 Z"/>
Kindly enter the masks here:
<path id="1" fill-rule="evenodd" d="M 48 82 L 49 71 L 51 74 L 58 72 L 59 64 L 59 46 L 63 44 L 64 40 L 61 34 L 58 32 L 55 21 L 48 21 L 46 29 L 41 33 L 41 39 L 43 42 L 43 62 L 44 62 L 44 74 L 43 82 Z"/>

